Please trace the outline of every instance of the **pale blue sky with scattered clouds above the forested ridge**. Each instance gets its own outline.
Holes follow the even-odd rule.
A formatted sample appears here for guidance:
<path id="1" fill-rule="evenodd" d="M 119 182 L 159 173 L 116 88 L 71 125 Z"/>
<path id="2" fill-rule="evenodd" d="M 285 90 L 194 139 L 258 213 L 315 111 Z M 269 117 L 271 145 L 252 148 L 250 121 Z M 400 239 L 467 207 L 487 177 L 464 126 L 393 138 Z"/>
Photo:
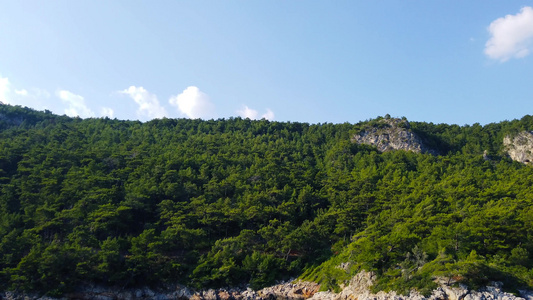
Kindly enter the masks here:
<path id="1" fill-rule="evenodd" d="M 80 117 L 533 114 L 533 0 L 0 1 L 0 101 Z"/>

